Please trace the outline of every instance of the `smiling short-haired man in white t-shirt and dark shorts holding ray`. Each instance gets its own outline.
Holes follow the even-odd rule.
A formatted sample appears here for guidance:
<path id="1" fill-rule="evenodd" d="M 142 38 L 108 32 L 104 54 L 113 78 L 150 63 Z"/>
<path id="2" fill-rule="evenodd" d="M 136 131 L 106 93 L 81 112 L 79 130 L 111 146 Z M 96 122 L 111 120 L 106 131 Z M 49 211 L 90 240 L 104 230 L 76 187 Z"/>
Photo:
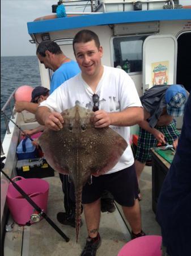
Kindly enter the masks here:
<path id="1" fill-rule="evenodd" d="M 94 32 L 90 30 L 79 31 L 73 40 L 73 49 L 81 73 L 64 82 L 54 90 L 46 101 L 40 104 L 36 112 L 37 121 L 50 130 L 61 131 L 66 125 L 66 119 L 61 115 L 63 110 L 69 109 L 69 117 L 70 113 L 75 111 L 77 114 L 74 122 L 76 122 L 77 119 L 79 121 L 80 111 L 89 109 L 87 112 L 90 113 L 90 110 L 95 111 L 97 108 L 99 110 L 92 113 L 91 118 L 94 128 L 100 132 L 103 130 L 104 133 L 105 129 L 110 126 L 113 128 L 112 132 L 113 130 L 116 131 L 115 134 L 120 135 L 122 140 L 128 143 L 117 164 L 112 166 L 106 175 L 101 175 L 104 171 L 95 170 L 96 172 L 94 172 L 92 170 L 92 184 L 86 183 L 83 187 L 82 203 L 88 238 L 81 255 L 93 256 L 96 255 L 96 250 L 101 242 L 99 235 L 100 197 L 104 189 L 111 192 L 114 200 L 122 206 L 125 217 L 131 226 L 131 238 L 145 236 L 141 228 L 138 182 L 133 152 L 129 144 L 129 126 L 143 120 L 143 109 L 130 76 L 122 69 L 106 67 L 101 64 L 103 48 Z M 72 126 L 69 126 L 70 128 L 71 130 L 77 129 L 77 127 Z M 86 130 L 86 126 L 83 126 L 83 129 Z M 43 139 L 41 139 L 40 145 L 43 146 Z M 65 143 L 63 143 L 64 146 Z M 59 145 L 58 147 L 61 148 Z M 102 151 L 103 148 L 100 148 L 100 152 Z M 61 166 L 58 165 L 57 169 L 61 170 Z M 70 195 L 74 198 L 72 186 Z"/>

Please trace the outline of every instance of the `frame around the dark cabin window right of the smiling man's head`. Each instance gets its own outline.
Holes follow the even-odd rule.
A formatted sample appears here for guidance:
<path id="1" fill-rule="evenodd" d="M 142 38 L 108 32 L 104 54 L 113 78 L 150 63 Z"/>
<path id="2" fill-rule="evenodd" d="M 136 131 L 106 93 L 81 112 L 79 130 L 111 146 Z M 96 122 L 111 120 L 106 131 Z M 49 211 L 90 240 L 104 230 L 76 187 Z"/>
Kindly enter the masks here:
<path id="1" fill-rule="evenodd" d="M 112 36 L 111 40 L 110 40 L 110 48 L 111 48 L 111 67 L 114 67 L 114 45 L 113 45 L 113 40 L 115 38 L 140 38 L 140 36 L 145 36 L 145 39 L 147 38 L 147 36 L 153 35 L 153 33 L 149 33 L 149 34 L 136 34 L 136 35 L 116 35 L 116 36 Z M 143 43 L 145 42 L 145 39 L 143 40 Z M 142 60 L 143 60 L 143 43 L 142 43 Z M 141 75 L 143 72 L 143 68 L 142 71 L 135 71 L 135 72 L 129 72 L 128 75 L 130 76 L 134 76 L 134 75 Z"/>

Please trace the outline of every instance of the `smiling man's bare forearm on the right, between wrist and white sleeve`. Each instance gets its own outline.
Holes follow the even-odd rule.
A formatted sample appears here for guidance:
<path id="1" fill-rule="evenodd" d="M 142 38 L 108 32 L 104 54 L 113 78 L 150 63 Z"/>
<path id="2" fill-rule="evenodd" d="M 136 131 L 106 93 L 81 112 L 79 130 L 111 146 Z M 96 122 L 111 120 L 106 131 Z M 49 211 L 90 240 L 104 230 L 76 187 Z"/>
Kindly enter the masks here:
<path id="1" fill-rule="evenodd" d="M 131 107 L 122 112 L 109 113 L 111 125 L 132 126 L 143 120 L 143 109 L 141 107 Z"/>

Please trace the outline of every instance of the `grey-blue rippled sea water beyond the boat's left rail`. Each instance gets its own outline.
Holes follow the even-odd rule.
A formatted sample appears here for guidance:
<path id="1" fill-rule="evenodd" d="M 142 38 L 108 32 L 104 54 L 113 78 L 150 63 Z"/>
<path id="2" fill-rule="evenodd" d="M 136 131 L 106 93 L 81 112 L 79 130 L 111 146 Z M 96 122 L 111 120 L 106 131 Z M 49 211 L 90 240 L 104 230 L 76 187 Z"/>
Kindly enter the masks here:
<path id="1" fill-rule="evenodd" d="M 41 85 L 39 63 L 36 56 L 1 57 L 1 109 L 11 93 L 22 85 L 32 87 Z M 14 101 L 11 101 L 14 105 Z M 6 114 L 11 117 L 9 107 Z M 5 137 L 6 128 L 1 114 L 1 141 Z"/>

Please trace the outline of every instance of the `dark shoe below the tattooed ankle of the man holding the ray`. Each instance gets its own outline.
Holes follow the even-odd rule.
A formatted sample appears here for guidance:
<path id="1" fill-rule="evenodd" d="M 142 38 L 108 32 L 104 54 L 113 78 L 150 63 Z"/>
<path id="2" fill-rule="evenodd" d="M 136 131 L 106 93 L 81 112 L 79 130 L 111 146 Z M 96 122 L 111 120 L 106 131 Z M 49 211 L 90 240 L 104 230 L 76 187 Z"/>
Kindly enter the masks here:
<path id="1" fill-rule="evenodd" d="M 101 237 L 94 241 L 94 238 L 87 238 L 86 246 L 84 247 L 82 254 L 80 256 L 96 256 L 96 251 L 101 245 Z"/>

